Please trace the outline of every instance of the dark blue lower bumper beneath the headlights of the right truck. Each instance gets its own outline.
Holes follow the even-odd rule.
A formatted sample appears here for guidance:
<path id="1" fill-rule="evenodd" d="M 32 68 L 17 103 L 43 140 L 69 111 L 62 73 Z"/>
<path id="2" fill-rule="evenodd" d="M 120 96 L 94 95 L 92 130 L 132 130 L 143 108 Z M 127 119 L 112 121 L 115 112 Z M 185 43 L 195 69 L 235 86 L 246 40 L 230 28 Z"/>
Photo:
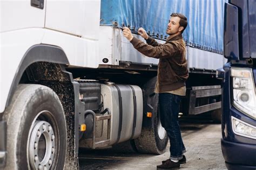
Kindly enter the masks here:
<path id="1" fill-rule="evenodd" d="M 221 139 L 221 149 L 228 169 L 256 169 L 256 145 Z"/>

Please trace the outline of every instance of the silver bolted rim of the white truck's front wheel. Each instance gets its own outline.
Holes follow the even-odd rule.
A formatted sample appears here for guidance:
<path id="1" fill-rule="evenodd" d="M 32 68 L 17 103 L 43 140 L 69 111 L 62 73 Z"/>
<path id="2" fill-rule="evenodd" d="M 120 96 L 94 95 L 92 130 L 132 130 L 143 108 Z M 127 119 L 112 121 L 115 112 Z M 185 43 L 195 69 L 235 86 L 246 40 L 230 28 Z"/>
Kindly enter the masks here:
<path id="1" fill-rule="evenodd" d="M 56 149 L 55 132 L 50 123 L 37 119 L 40 114 L 30 128 L 29 161 L 32 169 L 50 169 Z"/>

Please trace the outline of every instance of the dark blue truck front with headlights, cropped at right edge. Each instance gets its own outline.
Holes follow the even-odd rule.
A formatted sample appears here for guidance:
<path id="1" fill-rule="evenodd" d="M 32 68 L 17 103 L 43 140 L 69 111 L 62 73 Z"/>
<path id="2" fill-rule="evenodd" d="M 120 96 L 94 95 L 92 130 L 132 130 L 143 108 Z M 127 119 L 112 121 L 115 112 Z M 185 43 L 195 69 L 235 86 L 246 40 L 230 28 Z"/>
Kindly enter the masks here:
<path id="1" fill-rule="evenodd" d="M 221 148 L 228 169 L 256 169 L 256 0 L 225 4 Z"/>

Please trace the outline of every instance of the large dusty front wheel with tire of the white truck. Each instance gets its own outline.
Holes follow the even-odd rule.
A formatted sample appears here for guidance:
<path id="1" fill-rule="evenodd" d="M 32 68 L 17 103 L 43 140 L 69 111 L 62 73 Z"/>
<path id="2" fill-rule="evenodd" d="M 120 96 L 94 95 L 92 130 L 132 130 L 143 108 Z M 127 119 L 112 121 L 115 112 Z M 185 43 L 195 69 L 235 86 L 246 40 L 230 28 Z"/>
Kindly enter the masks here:
<path id="1" fill-rule="evenodd" d="M 66 122 L 62 104 L 49 87 L 18 85 L 7 121 L 5 169 L 63 169 Z"/>

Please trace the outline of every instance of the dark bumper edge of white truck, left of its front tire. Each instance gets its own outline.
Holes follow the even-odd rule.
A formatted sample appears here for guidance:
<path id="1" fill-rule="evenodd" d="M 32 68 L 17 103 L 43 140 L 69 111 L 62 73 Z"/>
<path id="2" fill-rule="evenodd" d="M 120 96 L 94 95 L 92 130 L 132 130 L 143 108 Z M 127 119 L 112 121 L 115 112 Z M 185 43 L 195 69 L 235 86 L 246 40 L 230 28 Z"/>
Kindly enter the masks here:
<path id="1" fill-rule="evenodd" d="M 6 160 L 6 122 L 0 120 L 0 169 L 5 166 Z"/>

